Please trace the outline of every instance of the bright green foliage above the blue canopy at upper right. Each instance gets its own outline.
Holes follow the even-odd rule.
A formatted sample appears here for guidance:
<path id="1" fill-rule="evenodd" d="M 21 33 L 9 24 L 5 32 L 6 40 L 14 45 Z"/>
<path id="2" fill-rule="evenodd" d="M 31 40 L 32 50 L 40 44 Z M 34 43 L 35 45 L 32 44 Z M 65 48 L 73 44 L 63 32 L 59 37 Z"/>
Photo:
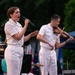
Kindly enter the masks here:
<path id="1" fill-rule="evenodd" d="M 64 26 L 70 32 L 75 30 L 75 0 L 69 0 L 65 6 Z"/>

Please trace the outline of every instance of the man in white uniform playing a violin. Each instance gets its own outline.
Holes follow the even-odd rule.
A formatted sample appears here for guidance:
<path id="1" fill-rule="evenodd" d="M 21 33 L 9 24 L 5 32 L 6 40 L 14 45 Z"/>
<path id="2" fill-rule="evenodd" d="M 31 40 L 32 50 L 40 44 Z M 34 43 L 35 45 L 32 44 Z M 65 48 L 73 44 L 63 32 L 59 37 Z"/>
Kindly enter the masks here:
<path id="1" fill-rule="evenodd" d="M 64 46 L 72 37 L 65 42 L 60 43 L 59 34 L 56 35 L 53 31 L 54 27 L 58 27 L 60 24 L 60 16 L 54 14 L 51 16 L 49 24 L 43 25 L 37 35 L 37 39 L 40 40 L 39 62 L 44 65 L 40 67 L 41 75 L 57 75 L 57 58 L 55 47 L 60 48 Z M 63 31 L 61 31 L 62 33 Z"/>

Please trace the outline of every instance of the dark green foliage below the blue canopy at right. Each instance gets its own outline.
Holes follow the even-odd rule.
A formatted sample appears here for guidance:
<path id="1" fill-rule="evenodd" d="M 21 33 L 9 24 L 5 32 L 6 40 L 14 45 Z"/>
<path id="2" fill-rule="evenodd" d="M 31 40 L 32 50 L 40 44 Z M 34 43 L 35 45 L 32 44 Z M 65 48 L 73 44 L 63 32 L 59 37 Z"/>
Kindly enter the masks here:
<path id="1" fill-rule="evenodd" d="M 63 62 L 64 62 L 64 68 L 67 67 L 67 61 L 68 61 L 68 67 L 69 69 L 75 69 L 75 50 L 73 49 L 63 49 Z"/>

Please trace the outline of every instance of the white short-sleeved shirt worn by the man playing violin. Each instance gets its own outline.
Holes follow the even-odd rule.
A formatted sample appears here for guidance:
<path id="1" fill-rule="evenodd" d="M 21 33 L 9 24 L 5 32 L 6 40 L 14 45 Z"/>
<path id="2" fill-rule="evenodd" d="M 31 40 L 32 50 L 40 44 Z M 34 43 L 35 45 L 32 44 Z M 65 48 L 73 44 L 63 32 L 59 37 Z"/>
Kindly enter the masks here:
<path id="1" fill-rule="evenodd" d="M 40 28 L 39 34 L 42 35 L 52 45 L 55 45 L 56 41 L 59 41 L 59 39 L 57 39 L 57 36 L 53 33 L 53 27 L 51 27 L 50 23 L 43 25 Z M 51 49 L 51 47 L 44 42 L 40 42 L 40 46 Z"/>

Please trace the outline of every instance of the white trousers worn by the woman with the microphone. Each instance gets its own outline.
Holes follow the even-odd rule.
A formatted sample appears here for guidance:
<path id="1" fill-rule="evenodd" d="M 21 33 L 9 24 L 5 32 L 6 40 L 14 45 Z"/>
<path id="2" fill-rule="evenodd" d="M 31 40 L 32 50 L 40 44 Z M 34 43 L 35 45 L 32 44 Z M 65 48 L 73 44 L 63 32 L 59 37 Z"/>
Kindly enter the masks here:
<path id="1" fill-rule="evenodd" d="M 19 46 L 8 46 L 5 49 L 5 60 L 7 64 L 7 75 L 20 75 L 23 59 L 23 48 Z"/>

